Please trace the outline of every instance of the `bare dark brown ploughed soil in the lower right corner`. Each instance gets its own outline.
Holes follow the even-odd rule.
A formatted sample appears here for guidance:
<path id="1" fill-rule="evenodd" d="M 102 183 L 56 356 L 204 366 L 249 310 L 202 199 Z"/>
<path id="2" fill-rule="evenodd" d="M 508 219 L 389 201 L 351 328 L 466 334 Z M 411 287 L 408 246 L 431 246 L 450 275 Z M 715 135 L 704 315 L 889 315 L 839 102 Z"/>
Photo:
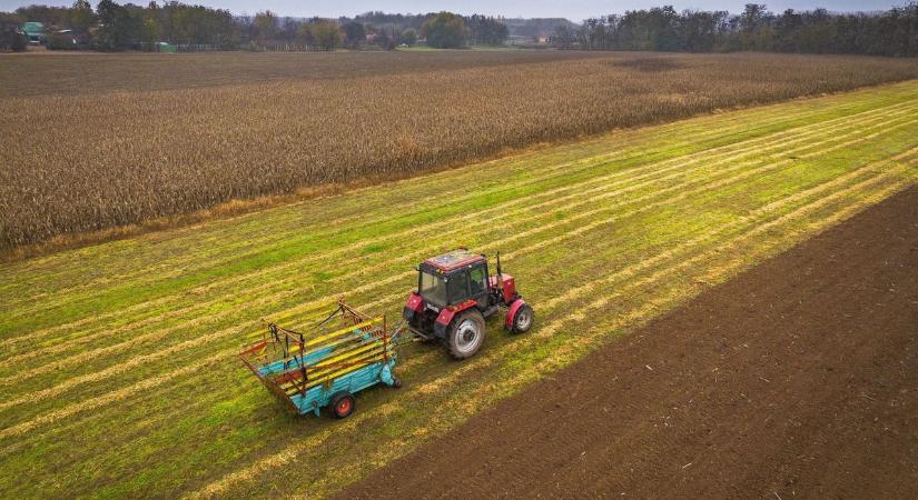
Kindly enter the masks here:
<path id="1" fill-rule="evenodd" d="M 918 498 L 918 188 L 342 497 Z"/>

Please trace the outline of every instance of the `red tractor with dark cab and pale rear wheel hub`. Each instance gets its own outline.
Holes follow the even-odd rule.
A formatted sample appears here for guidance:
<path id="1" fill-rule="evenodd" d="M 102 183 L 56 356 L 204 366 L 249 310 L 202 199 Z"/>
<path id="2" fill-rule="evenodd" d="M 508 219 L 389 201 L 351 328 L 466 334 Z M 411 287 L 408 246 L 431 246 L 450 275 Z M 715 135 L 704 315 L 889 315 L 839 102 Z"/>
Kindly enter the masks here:
<path id="1" fill-rule="evenodd" d="M 441 341 L 455 359 L 475 356 L 484 343 L 484 320 L 506 308 L 504 327 L 529 331 L 532 308 L 516 293 L 516 282 L 501 272 L 491 274 L 487 258 L 464 248 L 425 260 L 417 268 L 417 291 L 405 303 L 411 331 L 423 340 Z"/>

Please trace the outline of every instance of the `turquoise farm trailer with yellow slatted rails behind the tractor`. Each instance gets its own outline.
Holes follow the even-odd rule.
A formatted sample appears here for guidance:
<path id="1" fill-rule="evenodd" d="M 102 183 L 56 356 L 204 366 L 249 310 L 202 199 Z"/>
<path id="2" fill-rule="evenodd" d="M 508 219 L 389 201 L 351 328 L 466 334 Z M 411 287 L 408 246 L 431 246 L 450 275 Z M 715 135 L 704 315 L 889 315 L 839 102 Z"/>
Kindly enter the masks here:
<path id="1" fill-rule="evenodd" d="M 354 411 L 354 394 L 377 386 L 401 387 L 395 374 L 395 343 L 385 316 L 371 317 L 347 306 L 304 329 L 267 324 L 263 339 L 239 353 L 246 367 L 298 414 L 323 408 L 339 419 Z"/>

